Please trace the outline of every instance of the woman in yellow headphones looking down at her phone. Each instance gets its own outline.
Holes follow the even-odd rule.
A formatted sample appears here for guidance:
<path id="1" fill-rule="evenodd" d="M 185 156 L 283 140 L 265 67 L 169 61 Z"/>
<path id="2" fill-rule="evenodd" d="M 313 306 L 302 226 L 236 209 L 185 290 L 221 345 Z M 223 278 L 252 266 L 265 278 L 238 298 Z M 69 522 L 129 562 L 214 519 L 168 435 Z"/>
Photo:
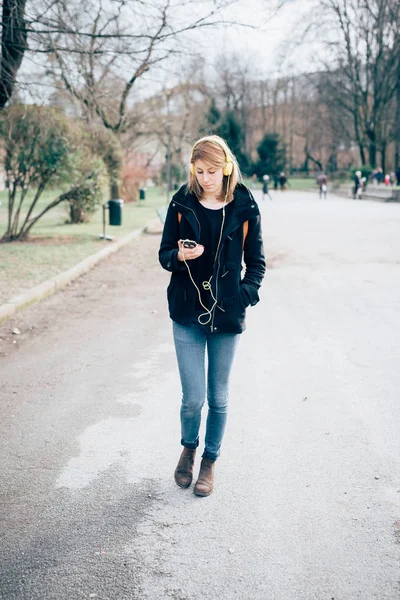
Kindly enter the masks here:
<path id="1" fill-rule="evenodd" d="M 189 183 L 169 204 L 159 251 L 162 267 L 172 272 L 167 295 L 182 384 L 183 452 L 175 470 L 180 487 L 192 483 L 206 395 L 208 400 L 197 496 L 213 491 L 236 344 L 245 329 L 246 307 L 259 301 L 265 272 L 260 213 L 239 181 L 238 164 L 224 140 L 215 135 L 198 140 Z"/>

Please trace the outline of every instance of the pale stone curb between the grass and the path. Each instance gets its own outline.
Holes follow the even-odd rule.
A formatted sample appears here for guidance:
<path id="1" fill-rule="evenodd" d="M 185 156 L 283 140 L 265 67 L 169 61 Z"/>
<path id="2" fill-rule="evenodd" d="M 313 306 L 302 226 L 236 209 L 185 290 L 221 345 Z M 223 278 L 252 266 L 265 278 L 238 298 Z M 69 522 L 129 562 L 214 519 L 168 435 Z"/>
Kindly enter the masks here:
<path id="1" fill-rule="evenodd" d="M 120 248 L 129 244 L 129 242 L 141 236 L 148 227 L 149 226 L 143 227 L 142 229 L 135 229 L 135 231 L 132 231 L 132 233 L 129 233 L 117 242 L 114 242 L 111 246 L 103 248 L 99 252 L 96 252 L 96 254 L 88 256 L 67 271 L 59 273 L 51 279 L 47 279 L 47 281 L 36 285 L 22 294 L 18 294 L 18 296 L 14 296 L 5 304 L 0 305 L 0 323 L 12 317 L 16 312 L 28 308 L 31 304 L 43 300 L 47 296 L 51 296 L 58 290 L 61 290 L 74 279 L 77 279 L 81 275 L 84 275 L 84 273 L 90 271 L 90 269 L 97 265 L 101 260 L 114 254 L 114 252 L 117 252 Z"/>

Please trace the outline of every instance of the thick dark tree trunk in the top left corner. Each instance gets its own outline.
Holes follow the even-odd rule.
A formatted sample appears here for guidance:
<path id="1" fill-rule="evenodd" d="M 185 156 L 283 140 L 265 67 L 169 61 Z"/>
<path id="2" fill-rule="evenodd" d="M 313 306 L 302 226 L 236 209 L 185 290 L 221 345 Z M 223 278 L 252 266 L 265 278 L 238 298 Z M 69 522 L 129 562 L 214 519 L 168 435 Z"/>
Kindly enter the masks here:
<path id="1" fill-rule="evenodd" d="M 14 89 L 18 69 L 27 48 L 25 27 L 26 0 L 3 0 L 1 63 L 0 63 L 0 109 L 9 101 Z"/>

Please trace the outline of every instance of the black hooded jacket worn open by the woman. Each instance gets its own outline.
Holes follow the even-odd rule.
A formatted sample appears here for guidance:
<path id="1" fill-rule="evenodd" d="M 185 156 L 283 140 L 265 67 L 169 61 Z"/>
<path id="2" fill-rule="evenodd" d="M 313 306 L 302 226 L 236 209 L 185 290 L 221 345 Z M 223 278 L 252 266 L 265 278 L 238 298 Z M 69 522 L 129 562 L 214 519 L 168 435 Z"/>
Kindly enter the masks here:
<path id="1" fill-rule="evenodd" d="M 212 282 L 217 305 L 210 323 L 205 325 L 212 333 L 244 331 L 246 308 L 259 301 L 258 289 L 265 273 L 261 217 L 257 203 L 250 190 L 242 184 L 236 186 L 232 202 L 214 264 Z M 186 326 L 190 326 L 196 316 L 197 290 L 185 263 L 178 260 L 178 240 L 188 238 L 199 242 L 197 209 L 196 196 L 187 193 L 186 185 L 182 186 L 169 204 L 159 251 L 161 266 L 172 273 L 167 290 L 170 317 Z M 246 221 L 248 228 L 244 240 Z M 242 259 L 245 264 L 243 278 Z M 188 264 L 199 285 L 196 260 Z"/>

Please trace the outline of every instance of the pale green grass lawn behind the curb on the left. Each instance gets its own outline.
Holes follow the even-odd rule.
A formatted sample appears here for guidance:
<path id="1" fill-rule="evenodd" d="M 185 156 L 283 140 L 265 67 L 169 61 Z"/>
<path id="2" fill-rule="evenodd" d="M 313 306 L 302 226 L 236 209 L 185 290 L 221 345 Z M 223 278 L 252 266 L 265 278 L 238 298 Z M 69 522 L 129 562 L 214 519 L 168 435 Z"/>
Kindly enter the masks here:
<path id="1" fill-rule="evenodd" d="M 37 212 L 57 195 L 58 190 L 44 193 Z M 0 202 L 1 237 L 6 229 L 7 192 L 0 192 Z M 106 212 L 106 234 L 118 239 L 134 229 L 144 227 L 157 218 L 157 207 L 165 203 L 165 191 L 161 188 L 147 189 L 145 200 L 123 206 L 120 227 L 108 225 L 108 211 Z M 29 206 L 27 200 L 25 204 Z M 90 223 L 70 225 L 66 223 L 67 218 L 66 207 L 57 206 L 31 229 L 27 242 L 0 244 L 0 304 L 73 267 L 112 243 L 98 238 L 103 231 L 102 208 L 92 216 Z"/>

